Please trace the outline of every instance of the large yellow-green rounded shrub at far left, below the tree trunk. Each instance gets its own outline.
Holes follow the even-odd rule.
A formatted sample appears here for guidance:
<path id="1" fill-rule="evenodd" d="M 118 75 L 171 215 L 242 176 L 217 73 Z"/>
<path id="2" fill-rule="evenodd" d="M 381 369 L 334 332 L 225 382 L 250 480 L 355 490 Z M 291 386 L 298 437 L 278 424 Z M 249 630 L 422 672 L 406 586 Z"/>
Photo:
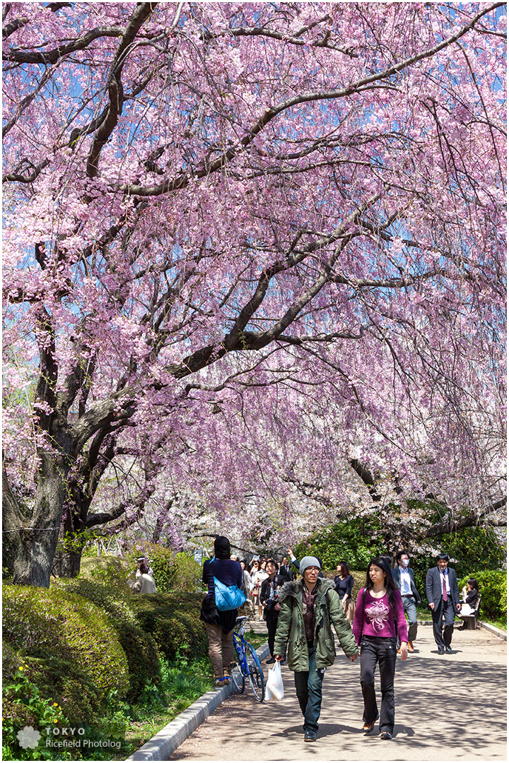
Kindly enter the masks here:
<path id="1" fill-rule="evenodd" d="M 127 694 L 127 658 L 105 613 L 62 588 L 6 585 L 3 636 L 24 657 L 41 649 L 79 665 L 101 697 L 112 689 Z"/>

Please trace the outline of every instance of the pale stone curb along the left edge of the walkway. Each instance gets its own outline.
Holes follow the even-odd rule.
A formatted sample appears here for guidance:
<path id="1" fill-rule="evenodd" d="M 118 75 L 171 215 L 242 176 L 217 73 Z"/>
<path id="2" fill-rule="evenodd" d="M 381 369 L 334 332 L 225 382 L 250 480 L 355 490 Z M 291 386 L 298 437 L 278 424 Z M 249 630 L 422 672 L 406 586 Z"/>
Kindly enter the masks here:
<path id="1" fill-rule="evenodd" d="M 265 643 L 256 649 L 260 662 L 269 654 L 269 645 Z M 201 723 L 219 707 L 221 702 L 234 691 L 234 684 L 221 689 L 212 689 L 180 713 L 153 736 L 143 747 L 133 753 L 126 761 L 166 761 L 185 739 L 198 729 Z"/>

